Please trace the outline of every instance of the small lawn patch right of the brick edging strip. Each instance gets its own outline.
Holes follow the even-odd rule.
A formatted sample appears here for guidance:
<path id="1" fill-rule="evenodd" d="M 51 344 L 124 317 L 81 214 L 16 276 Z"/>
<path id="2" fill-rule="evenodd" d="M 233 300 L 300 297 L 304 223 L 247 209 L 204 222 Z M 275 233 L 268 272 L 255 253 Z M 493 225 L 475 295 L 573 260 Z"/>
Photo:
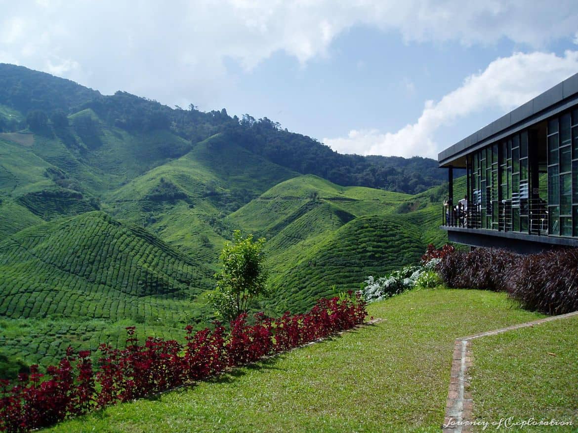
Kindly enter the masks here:
<path id="1" fill-rule="evenodd" d="M 578 316 L 475 339 L 472 356 L 469 374 L 476 420 L 556 419 L 572 421 L 573 426 L 524 431 L 576 431 Z"/>

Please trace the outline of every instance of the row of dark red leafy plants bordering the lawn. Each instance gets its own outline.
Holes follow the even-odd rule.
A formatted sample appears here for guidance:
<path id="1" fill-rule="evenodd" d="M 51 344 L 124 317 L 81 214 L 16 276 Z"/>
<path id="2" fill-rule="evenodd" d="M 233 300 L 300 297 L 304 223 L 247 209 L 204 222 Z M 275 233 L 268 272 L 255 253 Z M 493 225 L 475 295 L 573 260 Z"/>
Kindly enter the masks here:
<path id="1" fill-rule="evenodd" d="M 193 333 L 186 327 L 186 345 L 175 340 L 148 337 L 138 344 L 135 327 L 127 327 L 127 344 L 115 349 L 101 344 L 101 357 L 93 367 L 90 351 L 73 356 L 71 348 L 58 366 L 30 374 L 18 383 L 0 382 L 0 430 L 24 432 L 47 427 L 116 402 L 134 400 L 208 378 L 223 371 L 292 349 L 307 342 L 351 329 L 364 322 L 365 302 L 350 292 L 347 297 L 322 299 L 307 313 L 280 318 L 243 313 L 227 331 L 214 329 Z"/>

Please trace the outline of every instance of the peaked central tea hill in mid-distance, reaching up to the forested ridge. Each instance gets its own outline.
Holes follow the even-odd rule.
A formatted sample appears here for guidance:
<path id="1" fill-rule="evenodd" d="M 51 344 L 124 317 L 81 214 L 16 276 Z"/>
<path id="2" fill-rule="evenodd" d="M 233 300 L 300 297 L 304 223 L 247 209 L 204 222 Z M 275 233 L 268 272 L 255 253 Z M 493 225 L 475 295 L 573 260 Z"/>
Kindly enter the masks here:
<path id="1" fill-rule="evenodd" d="M 294 176 L 216 135 L 109 193 L 102 206 L 210 264 L 235 227 L 224 217 Z"/>

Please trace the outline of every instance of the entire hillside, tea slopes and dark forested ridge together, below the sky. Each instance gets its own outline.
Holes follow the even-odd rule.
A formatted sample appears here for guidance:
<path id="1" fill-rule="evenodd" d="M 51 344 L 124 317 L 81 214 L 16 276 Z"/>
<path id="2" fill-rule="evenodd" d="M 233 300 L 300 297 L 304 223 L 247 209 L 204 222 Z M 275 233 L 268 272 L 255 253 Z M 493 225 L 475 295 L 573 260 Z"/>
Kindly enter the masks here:
<path id="1" fill-rule="evenodd" d="M 0 65 L 0 376 L 124 328 L 181 338 L 234 230 L 263 236 L 269 315 L 302 312 L 442 244 L 446 176 L 340 155 L 250 115 L 171 109 Z M 455 191 L 460 191 L 460 181 Z"/>

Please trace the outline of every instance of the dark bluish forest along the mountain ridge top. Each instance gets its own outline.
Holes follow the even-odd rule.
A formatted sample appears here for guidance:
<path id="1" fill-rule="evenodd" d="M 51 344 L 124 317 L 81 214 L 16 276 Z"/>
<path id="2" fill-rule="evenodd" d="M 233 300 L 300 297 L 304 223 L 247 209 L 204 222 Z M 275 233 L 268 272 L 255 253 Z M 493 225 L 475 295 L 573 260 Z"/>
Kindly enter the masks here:
<path id="1" fill-rule="evenodd" d="M 246 114 L 239 119 L 229 116 L 225 109 L 203 113 L 192 104 L 188 110 L 171 109 L 121 91 L 103 96 L 72 81 L 22 66 L 0 64 L 0 89 L 0 105 L 6 107 L 0 107 L 0 132 L 28 126 L 43 135 L 60 137 L 68 147 L 77 148 L 84 155 L 102 145 L 102 129 L 88 116 L 73 120 L 76 133 L 84 136 L 79 143 L 63 114 L 91 109 L 107 127 L 137 135 L 164 130 L 194 144 L 221 132 L 227 141 L 273 163 L 344 186 L 417 193 L 444 179 L 432 159 L 341 155 L 315 139 L 282 129 L 266 117 L 255 120 Z M 163 150 L 168 158 L 183 154 L 178 147 L 167 146 Z"/>

